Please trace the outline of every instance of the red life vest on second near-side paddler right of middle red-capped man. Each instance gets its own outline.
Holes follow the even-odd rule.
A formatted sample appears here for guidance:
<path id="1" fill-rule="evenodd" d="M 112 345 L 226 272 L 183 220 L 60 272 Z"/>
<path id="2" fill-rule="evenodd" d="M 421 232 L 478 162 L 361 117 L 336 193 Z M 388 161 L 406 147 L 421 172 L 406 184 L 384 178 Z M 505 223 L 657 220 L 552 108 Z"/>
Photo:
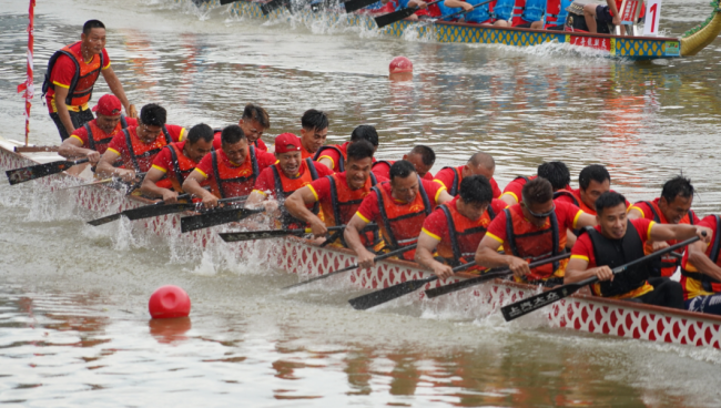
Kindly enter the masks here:
<path id="1" fill-rule="evenodd" d="M 382 223 L 378 225 L 384 239 L 390 249 L 395 251 L 402 246 L 413 245 L 418 242 L 418 235 L 423 228 L 423 222 L 433 211 L 428 194 L 418 178 L 418 194 L 412 203 L 398 205 L 393 196 L 380 185 L 373 187 L 378 195 L 378 210 L 380 211 Z M 405 259 L 413 259 L 416 251 L 408 251 L 403 255 Z"/>

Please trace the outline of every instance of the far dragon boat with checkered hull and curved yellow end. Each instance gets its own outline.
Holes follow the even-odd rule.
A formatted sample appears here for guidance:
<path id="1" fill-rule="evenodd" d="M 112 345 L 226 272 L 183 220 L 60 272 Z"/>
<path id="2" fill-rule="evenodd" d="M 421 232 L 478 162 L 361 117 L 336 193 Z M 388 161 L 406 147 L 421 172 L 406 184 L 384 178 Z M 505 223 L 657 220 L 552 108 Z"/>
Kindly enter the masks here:
<path id="1" fill-rule="evenodd" d="M 186 0 L 173 0 L 181 3 Z M 203 0 L 201 0 L 203 1 Z M 505 44 L 514 47 L 534 47 L 548 42 L 568 43 L 592 49 L 600 54 L 624 60 L 654 60 L 695 55 L 710 44 L 721 31 L 721 0 L 712 0 L 711 16 L 683 33 L 680 38 L 664 37 L 624 37 L 618 34 L 591 34 L 578 31 L 549 31 L 521 28 L 499 28 L 463 22 L 396 21 L 378 29 L 374 16 L 368 13 L 345 13 L 336 10 L 314 11 L 309 6 L 294 10 L 278 8 L 264 14 L 258 1 L 235 1 L 229 4 L 229 11 L 237 18 L 268 20 L 301 19 L 308 24 L 332 27 L 357 27 L 363 30 L 378 30 L 393 37 L 404 37 L 412 32 L 416 38 L 428 38 L 438 42 Z M 199 3 L 200 8 L 210 10 L 221 6 L 220 0 Z M 633 30 L 634 31 L 634 30 Z"/>

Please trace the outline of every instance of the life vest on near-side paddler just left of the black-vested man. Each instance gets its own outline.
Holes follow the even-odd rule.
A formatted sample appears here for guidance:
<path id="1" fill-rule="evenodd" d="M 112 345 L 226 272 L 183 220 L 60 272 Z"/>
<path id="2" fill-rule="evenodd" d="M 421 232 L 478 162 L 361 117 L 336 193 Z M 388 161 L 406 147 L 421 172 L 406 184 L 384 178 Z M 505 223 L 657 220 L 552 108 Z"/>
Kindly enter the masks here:
<path id="1" fill-rule="evenodd" d="M 566 246 L 566 232 L 558 231 L 558 218 L 554 212 L 547 220 L 544 230 L 538 230 L 527 221 L 522 213 L 519 215 L 511 208 L 506 212 L 506 242 L 504 251 L 525 259 L 541 259 L 559 255 Z M 531 269 L 526 280 L 546 280 L 550 277 L 562 277 L 568 259 L 557 261 Z"/>

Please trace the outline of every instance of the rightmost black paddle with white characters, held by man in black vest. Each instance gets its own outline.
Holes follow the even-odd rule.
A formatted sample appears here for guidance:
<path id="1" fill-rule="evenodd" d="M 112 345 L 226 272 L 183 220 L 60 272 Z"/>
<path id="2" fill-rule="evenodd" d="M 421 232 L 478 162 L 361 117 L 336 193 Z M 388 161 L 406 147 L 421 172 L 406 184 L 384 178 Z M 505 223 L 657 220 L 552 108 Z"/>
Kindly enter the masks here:
<path id="1" fill-rule="evenodd" d="M 703 234 L 705 236 L 705 233 Z M 647 256 L 640 257 L 636 261 L 631 261 L 626 265 L 621 265 L 619 267 L 615 267 L 612 269 L 613 275 L 618 275 L 622 272 L 626 272 L 629 267 L 647 263 L 656 257 L 659 257 L 663 254 L 668 254 L 674 249 L 682 248 L 689 244 L 692 244 L 700 238 L 698 236 L 694 236 L 693 238 L 687 239 L 682 243 L 678 243 L 676 245 L 671 245 L 668 248 L 663 248 L 661 251 L 654 252 L 652 254 L 649 254 Z M 581 282 L 577 282 L 575 284 L 568 284 L 568 285 L 562 285 L 555 287 L 550 290 L 544 292 L 541 294 L 538 294 L 536 296 L 531 296 L 528 298 L 525 298 L 522 300 L 518 300 L 516 303 L 511 303 L 510 305 L 504 306 L 500 308 L 500 312 L 504 314 L 504 318 L 506 322 L 510 322 L 512 319 L 519 318 L 524 315 L 527 315 L 534 310 L 538 310 L 541 307 L 548 306 L 555 302 L 558 302 L 565 297 L 568 297 L 572 294 L 575 294 L 578 289 L 580 289 L 583 286 L 587 285 L 592 285 L 598 282 L 597 276 L 589 277 L 588 279 L 583 279 Z"/>

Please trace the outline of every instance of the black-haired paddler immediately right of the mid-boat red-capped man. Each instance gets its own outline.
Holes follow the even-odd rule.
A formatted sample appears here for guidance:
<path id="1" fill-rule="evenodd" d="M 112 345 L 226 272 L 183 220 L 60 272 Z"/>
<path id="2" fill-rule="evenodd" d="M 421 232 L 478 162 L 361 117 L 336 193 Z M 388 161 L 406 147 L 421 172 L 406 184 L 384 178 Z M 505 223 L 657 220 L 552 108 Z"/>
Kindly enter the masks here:
<path id="1" fill-rule="evenodd" d="M 344 172 L 315 180 L 296 190 L 285 201 L 287 212 L 306 222 L 316 237 L 325 236 L 327 226 L 347 224 L 370 188 L 379 182 L 387 181 L 387 178 L 376 177 L 370 171 L 375 153 L 375 147 L 370 142 L 356 140 L 347 145 L 345 152 Z M 323 218 L 309 210 L 315 203 L 321 203 Z M 347 247 L 343 232 L 339 232 L 338 235 L 337 239 L 332 241 L 332 245 L 339 244 Z M 377 232 L 362 234 L 362 241 L 365 247 L 373 248 L 380 244 Z"/>

